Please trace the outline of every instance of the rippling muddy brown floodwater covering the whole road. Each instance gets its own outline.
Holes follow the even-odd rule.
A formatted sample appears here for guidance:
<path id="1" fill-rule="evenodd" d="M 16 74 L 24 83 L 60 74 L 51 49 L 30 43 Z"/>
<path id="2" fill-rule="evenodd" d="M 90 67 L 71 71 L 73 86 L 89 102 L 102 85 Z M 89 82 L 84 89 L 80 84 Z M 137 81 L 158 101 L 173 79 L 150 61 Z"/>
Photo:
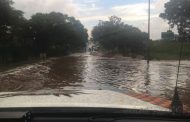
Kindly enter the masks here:
<path id="1" fill-rule="evenodd" d="M 102 89 L 172 99 L 177 64 L 151 61 L 147 66 L 145 60 L 75 54 L 1 72 L 0 92 Z M 190 61 L 182 61 L 179 88 L 180 97 L 190 107 Z"/>

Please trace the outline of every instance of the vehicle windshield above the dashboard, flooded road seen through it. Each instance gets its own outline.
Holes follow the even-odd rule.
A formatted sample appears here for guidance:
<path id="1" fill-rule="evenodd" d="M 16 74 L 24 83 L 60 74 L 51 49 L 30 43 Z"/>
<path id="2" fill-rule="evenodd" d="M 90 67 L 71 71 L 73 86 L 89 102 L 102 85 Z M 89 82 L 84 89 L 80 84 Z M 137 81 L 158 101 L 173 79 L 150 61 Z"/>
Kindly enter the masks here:
<path id="1" fill-rule="evenodd" d="M 190 111 L 190 0 L 0 0 L 0 11 L 0 108 Z"/>

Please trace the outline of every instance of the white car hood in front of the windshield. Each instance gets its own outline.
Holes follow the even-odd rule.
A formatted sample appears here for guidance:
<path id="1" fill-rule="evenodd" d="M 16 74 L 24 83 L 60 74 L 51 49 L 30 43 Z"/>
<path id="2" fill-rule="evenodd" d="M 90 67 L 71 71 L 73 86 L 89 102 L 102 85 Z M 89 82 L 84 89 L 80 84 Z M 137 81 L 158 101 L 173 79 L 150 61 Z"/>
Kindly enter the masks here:
<path id="1" fill-rule="evenodd" d="M 99 107 L 126 108 L 141 110 L 170 111 L 157 105 L 144 102 L 124 93 L 109 90 L 82 90 L 71 94 L 14 92 L 0 93 L 0 108 L 14 107 Z"/>

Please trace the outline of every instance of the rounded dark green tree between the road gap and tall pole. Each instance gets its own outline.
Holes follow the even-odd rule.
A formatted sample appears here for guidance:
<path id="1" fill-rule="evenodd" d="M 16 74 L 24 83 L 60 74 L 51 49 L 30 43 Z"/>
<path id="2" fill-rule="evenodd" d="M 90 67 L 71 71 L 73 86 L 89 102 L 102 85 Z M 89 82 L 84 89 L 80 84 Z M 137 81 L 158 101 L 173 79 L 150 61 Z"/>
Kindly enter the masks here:
<path id="1" fill-rule="evenodd" d="M 103 49 L 124 55 L 142 54 L 148 39 L 147 33 L 124 24 L 117 16 L 111 16 L 109 21 L 99 21 L 92 30 L 92 37 Z"/>

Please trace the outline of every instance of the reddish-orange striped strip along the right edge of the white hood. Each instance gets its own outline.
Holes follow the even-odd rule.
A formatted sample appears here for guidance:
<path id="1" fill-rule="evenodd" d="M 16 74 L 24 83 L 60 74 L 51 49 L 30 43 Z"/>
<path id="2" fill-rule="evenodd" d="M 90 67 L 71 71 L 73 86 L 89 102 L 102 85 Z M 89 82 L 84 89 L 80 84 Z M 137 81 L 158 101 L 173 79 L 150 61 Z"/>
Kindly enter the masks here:
<path id="1" fill-rule="evenodd" d="M 140 93 L 127 93 L 127 95 L 140 99 L 145 102 L 149 102 L 153 105 L 171 109 L 172 101 L 169 99 L 159 98 L 159 97 L 151 96 L 148 94 L 140 94 Z M 183 105 L 183 109 L 185 112 L 190 112 L 190 108 L 188 108 L 186 105 Z"/>

